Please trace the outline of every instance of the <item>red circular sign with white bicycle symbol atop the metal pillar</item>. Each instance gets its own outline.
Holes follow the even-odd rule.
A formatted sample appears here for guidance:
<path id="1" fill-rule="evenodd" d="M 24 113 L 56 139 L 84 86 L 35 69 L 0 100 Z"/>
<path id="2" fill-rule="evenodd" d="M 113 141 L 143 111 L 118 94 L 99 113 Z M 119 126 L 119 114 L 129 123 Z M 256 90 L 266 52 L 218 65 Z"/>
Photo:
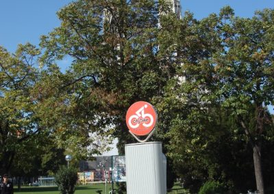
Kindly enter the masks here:
<path id="1" fill-rule="evenodd" d="M 157 113 L 149 102 L 135 102 L 127 110 L 127 128 L 135 135 L 147 135 L 153 130 Z"/>

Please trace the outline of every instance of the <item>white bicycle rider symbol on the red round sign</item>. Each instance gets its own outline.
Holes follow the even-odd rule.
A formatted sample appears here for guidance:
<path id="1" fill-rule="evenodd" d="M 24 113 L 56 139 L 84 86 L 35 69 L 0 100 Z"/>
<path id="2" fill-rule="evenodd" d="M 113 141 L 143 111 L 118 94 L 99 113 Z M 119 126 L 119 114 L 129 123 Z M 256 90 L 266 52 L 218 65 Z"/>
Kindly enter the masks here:
<path id="1" fill-rule="evenodd" d="M 149 127 L 153 124 L 153 116 L 149 113 L 145 113 L 145 108 L 147 108 L 147 105 L 144 105 L 143 107 L 138 109 L 138 111 L 136 111 L 136 115 L 132 115 L 129 117 L 128 124 L 131 128 L 138 128 L 140 124 L 145 127 Z M 149 117 L 149 119 L 147 119 L 146 117 Z M 149 124 L 146 124 L 146 122 L 148 122 L 149 120 Z"/>

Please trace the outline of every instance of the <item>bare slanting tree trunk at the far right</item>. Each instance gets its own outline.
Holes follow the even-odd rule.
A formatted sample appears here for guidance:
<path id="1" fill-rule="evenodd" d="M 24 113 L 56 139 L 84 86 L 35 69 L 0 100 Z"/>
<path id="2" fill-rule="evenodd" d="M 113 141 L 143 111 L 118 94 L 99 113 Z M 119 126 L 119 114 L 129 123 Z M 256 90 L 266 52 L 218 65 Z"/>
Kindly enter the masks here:
<path id="1" fill-rule="evenodd" d="M 260 191 L 260 194 L 264 194 L 264 179 L 262 176 L 261 151 L 260 146 L 258 146 L 257 144 L 253 146 L 253 162 L 257 190 Z"/>

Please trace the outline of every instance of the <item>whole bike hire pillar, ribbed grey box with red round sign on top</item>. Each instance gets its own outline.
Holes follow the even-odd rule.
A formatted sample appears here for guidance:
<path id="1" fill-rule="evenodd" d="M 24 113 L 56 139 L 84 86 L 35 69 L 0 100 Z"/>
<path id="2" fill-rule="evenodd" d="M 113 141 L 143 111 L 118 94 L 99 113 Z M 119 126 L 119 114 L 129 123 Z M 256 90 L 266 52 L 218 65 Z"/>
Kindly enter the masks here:
<path id="1" fill-rule="evenodd" d="M 135 102 L 127 110 L 126 122 L 129 133 L 139 142 L 125 145 L 127 193 L 166 194 L 166 157 L 162 143 L 147 142 L 157 122 L 155 109 L 148 102 Z"/>

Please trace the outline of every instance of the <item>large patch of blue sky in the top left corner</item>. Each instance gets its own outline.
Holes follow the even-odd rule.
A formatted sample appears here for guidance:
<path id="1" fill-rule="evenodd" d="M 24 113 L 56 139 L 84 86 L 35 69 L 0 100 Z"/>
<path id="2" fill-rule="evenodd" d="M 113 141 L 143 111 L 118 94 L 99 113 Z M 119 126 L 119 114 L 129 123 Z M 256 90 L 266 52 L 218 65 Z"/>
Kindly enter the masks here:
<path id="1" fill-rule="evenodd" d="M 38 44 L 41 35 L 60 25 L 56 12 L 69 0 L 0 0 L 0 45 Z"/>

